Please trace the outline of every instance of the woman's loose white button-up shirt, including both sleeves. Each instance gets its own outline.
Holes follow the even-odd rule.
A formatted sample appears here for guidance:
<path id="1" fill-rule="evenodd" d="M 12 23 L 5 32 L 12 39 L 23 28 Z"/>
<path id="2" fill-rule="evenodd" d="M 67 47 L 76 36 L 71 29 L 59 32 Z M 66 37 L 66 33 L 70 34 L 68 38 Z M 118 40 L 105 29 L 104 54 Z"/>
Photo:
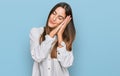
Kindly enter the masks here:
<path id="1" fill-rule="evenodd" d="M 43 31 L 43 27 L 30 31 L 30 51 L 34 60 L 32 76 L 69 76 L 67 68 L 73 63 L 72 51 L 67 51 L 65 42 L 61 42 L 63 47 L 57 47 L 57 58 L 52 59 L 51 48 L 57 36 L 45 35 L 45 40 L 39 44 Z"/>

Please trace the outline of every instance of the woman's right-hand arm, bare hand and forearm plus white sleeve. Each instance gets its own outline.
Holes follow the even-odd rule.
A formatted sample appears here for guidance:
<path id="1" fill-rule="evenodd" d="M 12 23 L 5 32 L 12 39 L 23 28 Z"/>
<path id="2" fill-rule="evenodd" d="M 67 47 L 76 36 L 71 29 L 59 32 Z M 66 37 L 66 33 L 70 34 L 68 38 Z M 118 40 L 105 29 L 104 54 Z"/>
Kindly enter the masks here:
<path id="1" fill-rule="evenodd" d="M 58 36 L 58 47 L 57 47 L 57 59 L 60 62 L 60 64 L 67 68 L 70 67 L 73 63 L 73 53 L 72 51 L 68 51 L 66 49 L 66 44 L 63 42 L 63 32 L 67 26 L 67 24 L 70 22 L 71 17 L 67 16 L 66 19 L 64 20 L 63 26 L 60 28 L 60 30 L 57 33 Z"/>

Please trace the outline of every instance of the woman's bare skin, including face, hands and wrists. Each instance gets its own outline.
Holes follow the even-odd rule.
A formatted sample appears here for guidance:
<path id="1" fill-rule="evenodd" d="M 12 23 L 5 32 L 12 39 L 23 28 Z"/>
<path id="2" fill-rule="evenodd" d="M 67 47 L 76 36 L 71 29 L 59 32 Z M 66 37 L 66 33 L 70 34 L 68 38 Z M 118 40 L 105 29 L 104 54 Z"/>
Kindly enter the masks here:
<path id="1" fill-rule="evenodd" d="M 54 35 L 58 36 L 58 47 L 62 47 L 60 45 L 63 41 L 62 34 L 70 20 L 71 17 L 66 16 L 65 9 L 62 7 L 56 8 L 56 10 L 49 17 L 48 26 L 53 28 L 49 35 L 51 37 L 54 37 Z"/>

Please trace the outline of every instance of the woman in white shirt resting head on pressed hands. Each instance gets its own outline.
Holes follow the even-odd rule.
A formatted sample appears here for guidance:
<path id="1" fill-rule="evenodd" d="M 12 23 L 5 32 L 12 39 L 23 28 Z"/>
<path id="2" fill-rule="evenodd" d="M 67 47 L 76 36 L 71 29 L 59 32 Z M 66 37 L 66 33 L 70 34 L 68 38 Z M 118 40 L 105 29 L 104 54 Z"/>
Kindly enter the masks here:
<path id="1" fill-rule="evenodd" d="M 32 76 L 69 76 L 75 38 L 72 10 L 65 2 L 56 4 L 44 28 L 30 31 L 30 50 L 34 60 Z"/>

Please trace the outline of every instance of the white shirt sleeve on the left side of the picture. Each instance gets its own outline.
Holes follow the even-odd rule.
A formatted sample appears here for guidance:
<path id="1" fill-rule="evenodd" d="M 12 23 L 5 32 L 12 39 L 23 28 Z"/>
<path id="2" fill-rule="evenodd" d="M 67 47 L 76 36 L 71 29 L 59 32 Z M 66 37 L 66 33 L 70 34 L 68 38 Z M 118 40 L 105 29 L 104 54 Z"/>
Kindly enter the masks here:
<path id="1" fill-rule="evenodd" d="M 56 39 L 55 36 L 52 38 L 49 35 L 45 35 L 45 40 L 39 44 L 39 38 L 42 32 L 43 29 L 37 30 L 36 28 L 30 31 L 30 51 L 33 60 L 36 62 L 41 62 L 48 56 L 51 45 Z"/>

